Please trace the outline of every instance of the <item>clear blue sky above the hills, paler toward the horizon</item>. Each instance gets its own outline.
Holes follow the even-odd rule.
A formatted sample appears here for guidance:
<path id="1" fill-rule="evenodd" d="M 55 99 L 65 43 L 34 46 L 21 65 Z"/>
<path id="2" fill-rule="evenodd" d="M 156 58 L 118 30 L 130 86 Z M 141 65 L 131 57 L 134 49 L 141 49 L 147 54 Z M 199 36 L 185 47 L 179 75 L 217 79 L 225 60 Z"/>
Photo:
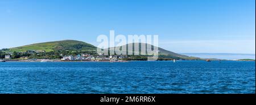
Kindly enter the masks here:
<path id="1" fill-rule="evenodd" d="M 174 52 L 255 54 L 254 0 L 1 0 L 0 49 L 97 36 L 158 34 Z"/>

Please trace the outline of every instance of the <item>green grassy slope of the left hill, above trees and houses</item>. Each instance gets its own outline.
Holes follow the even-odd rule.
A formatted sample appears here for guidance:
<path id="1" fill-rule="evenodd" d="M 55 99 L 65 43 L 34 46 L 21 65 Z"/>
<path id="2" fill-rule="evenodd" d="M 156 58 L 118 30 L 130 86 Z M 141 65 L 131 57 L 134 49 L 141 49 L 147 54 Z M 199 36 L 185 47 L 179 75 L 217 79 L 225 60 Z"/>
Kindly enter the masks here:
<path id="1" fill-rule="evenodd" d="M 58 51 L 58 50 L 73 50 L 73 51 L 94 50 L 96 51 L 96 47 L 82 41 L 64 40 L 64 41 L 35 43 L 32 45 L 14 47 L 9 49 L 9 51 L 16 51 L 16 52 L 26 52 L 27 50 L 44 50 L 46 52 Z"/>

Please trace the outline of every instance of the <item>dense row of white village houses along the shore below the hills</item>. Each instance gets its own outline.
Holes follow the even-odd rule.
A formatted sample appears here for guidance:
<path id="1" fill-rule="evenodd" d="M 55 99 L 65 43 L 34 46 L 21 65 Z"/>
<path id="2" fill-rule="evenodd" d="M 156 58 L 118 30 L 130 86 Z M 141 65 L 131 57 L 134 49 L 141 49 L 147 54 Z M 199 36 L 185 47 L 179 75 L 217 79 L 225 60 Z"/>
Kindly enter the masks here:
<path id="1" fill-rule="evenodd" d="M 127 58 L 127 55 L 97 55 L 79 54 L 76 56 L 63 56 L 61 60 L 85 60 L 85 61 L 117 61 L 118 59 Z"/>

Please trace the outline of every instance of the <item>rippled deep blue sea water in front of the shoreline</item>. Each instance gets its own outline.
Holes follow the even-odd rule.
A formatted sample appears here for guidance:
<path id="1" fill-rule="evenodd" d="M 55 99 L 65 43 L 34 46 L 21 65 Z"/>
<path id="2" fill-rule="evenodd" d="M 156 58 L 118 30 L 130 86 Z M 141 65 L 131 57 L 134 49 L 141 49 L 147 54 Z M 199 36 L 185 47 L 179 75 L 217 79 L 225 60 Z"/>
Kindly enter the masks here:
<path id="1" fill-rule="evenodd" d="M 0 93 L 255 94 L 255 62 L 5 62 Z"/>

